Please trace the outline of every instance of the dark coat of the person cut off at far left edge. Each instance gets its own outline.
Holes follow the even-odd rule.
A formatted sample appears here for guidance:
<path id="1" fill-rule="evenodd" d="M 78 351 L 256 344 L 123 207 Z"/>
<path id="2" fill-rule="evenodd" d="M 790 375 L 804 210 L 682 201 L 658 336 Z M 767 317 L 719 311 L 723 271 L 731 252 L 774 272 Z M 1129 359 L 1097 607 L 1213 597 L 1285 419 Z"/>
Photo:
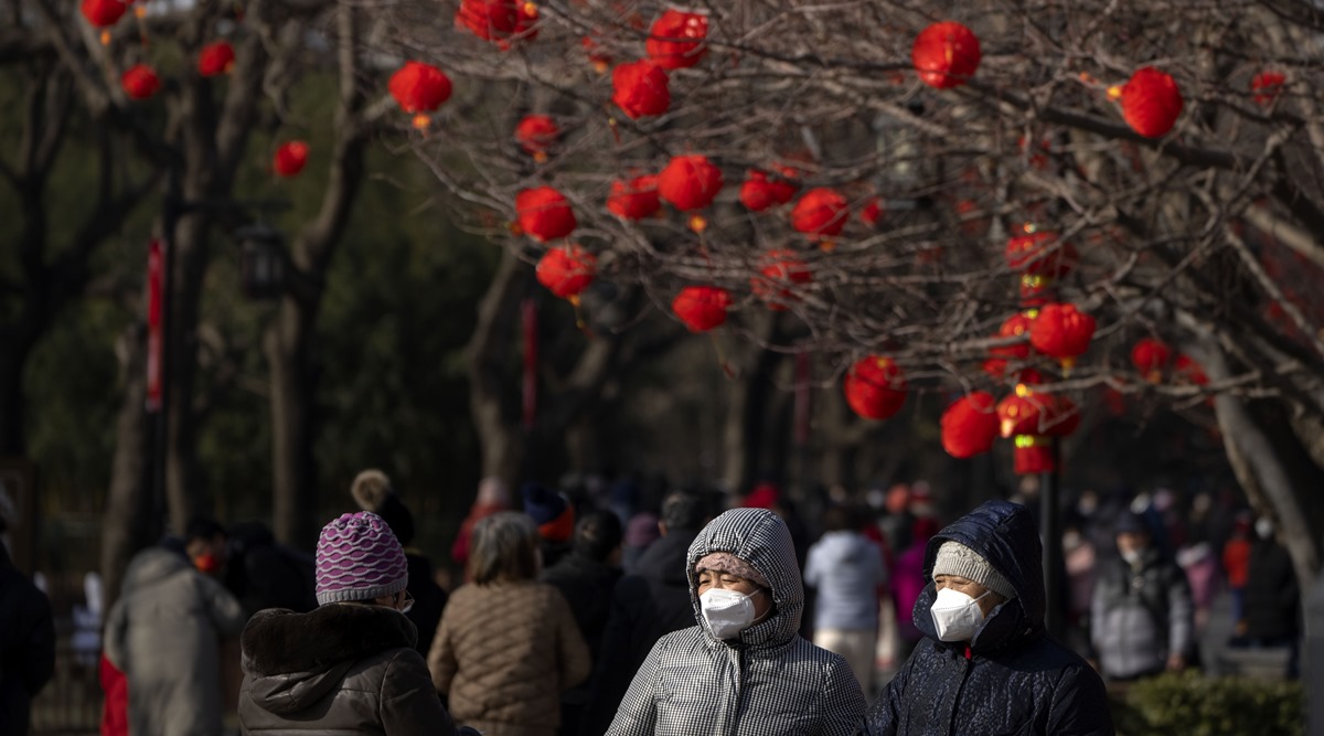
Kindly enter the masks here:
<path id="1" fill-rule="evenodd" d="M 56 671 L 50 601 L 0 544 L 0 733 L 28 733 L 28 708 Z"/>

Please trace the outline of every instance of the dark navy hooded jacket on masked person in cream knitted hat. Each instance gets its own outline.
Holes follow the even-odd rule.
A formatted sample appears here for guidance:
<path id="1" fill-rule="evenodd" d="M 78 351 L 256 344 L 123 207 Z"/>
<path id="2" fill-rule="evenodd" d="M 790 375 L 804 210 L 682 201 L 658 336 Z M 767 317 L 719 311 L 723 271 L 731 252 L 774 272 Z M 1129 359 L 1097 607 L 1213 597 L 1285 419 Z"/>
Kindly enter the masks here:
<path id="1" fill-rule="evenodd" d="M 937 549 L 955 540 L 978 552 L 1016 586 L 964 642 L 940 642 L 929 581 L 912 618 L 924 633 L 911 658 L 870 708 L 870 736 L 1112 735 L 1103 680 L 1043 630 L 1039 535 L 1021 504 L 990 500 L 928 541 L 924 578 Z"/>

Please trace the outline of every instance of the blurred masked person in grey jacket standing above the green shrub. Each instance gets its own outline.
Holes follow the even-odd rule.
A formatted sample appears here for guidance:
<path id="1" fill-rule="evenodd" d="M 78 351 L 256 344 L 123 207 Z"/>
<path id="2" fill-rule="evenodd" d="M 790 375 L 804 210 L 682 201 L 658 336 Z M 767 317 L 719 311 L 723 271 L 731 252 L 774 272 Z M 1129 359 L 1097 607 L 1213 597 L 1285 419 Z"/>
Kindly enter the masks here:
<path id="1" fill-rule="evenodd" d="M 1153 543 L 1143 516 L 1123 511 L 1113 526 L 1117 556 L 1099 564 L 1090 638 L 1104 678 L 1128 682 L 1196 659 L 1194 604 L 1186 572 Z"/>

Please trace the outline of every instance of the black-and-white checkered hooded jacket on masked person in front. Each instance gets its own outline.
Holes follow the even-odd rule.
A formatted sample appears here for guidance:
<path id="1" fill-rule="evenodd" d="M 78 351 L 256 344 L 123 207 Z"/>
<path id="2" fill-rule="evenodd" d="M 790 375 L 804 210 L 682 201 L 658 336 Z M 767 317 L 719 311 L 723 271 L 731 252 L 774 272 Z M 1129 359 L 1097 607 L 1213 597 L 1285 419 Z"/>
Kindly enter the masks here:
<path id="1" fill-rule="evenodd" d="M 712 552 L 749 563 L 772 588 L 772 616 L 735 639 L 714 637 L 700 613 L 694 567 Z M 776 514 L 735 508 L 714 519 L 690 545 L 687 573 L 699 625 L 658 641 L 609 736 L 854 736 L 863 727 L 865 696 L 846 661 L 796 633 L 805 592 Z"/>

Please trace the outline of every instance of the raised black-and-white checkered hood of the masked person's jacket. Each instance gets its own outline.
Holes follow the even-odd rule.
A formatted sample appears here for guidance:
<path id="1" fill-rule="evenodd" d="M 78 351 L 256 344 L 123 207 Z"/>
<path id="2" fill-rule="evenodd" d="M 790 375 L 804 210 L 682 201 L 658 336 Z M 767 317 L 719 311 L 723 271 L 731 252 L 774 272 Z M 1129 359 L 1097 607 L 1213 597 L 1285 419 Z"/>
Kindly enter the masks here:
<path id="1" fill-rule="evenodd" d="M 776 610 L 765 621 L 740 633 L 747 646 L 782 645 L 800 630 L 805 609 L 805 588 L 796 563 L 796 545 L 780 516 L 764 508 L 732 508 L 703 527 L 690 544 L 686 576 L 690 578 L 690 602 L 694 618 L 710 641 L 720 641 L 708 630 L 699 606 L 699 576 L 694 565 L 712 552 L 730 552 L 753 565 L 772 586 Z"/>

